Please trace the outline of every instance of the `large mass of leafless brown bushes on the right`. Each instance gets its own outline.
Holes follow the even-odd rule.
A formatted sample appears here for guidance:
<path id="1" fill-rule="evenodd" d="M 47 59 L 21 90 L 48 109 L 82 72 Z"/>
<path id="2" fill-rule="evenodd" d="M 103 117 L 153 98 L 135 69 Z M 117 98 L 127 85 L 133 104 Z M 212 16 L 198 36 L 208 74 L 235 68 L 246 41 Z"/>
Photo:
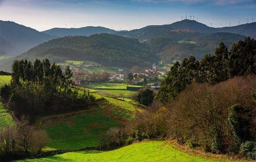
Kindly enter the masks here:
<path id="1" fill-rule="evenodd" d="M 188 86 L 170 103 L 170 136 L 185 140 L 195 137 L 200 145 L 220 153 L 239 149 L 240 144 L 234 146 L 239 141 L 234 132 L 242 140 L 255 141 L 256 105 L 251 98 L 256 92 L 255 80 L 256 76 L 247 76 L 216 85 Z M 229 108 L 236 104 L 243 108 Z"/>

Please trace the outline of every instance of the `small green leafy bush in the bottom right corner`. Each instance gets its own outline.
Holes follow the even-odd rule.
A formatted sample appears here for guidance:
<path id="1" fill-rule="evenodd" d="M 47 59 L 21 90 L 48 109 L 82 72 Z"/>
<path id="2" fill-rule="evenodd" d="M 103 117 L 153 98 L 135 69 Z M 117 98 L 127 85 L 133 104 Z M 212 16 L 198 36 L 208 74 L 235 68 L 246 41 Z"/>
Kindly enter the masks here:
<path id="1" fill-rule="evenodd" d="M 243 156 L 256 160 L 256 142 L 246 141 L 240 146 L 240 153 Z"/>

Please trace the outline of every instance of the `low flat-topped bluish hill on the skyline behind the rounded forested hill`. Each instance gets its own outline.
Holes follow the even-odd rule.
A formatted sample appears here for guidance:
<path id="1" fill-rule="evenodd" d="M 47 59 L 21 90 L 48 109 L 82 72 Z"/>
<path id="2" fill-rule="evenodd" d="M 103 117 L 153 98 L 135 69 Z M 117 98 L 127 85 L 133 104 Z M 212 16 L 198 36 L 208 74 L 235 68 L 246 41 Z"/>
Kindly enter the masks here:
<path id="1" fill-rule="evenodd" d="M 56 35 L 56 36 L 90 36 L 93 34 L 102 34 L 102 33 L 108 33 L 108 34 L 114 34 L 115 30 L 111 30 L 109 28 L 105 27 L 81 27 L 81 28 L 52 28 L 50 30 L 43 31 L 46 34 L 49 35 Z"/>

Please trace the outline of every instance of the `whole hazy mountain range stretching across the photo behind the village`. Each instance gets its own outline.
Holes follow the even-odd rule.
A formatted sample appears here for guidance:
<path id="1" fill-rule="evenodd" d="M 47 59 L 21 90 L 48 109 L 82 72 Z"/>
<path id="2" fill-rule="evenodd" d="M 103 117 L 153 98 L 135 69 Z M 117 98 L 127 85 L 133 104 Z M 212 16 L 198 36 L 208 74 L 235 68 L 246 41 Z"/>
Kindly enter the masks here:
<path id="1" fill-rule="evenodd" d="M 202 59 L 213 53 L 221 41 L 230 47 L 245 36 L 256 38 L 255 22 L 213 28 L 185 19 L 131 31 L 89 26 L 39 32 L 14 22 L 0 21 L 0 55 L 23 53 L 16 59 L 49 57 L 55 61 L 90 59 L 105 65 L 147 65 L 152 61 L 171 63 L 177 57 L 190 55 Z"/>

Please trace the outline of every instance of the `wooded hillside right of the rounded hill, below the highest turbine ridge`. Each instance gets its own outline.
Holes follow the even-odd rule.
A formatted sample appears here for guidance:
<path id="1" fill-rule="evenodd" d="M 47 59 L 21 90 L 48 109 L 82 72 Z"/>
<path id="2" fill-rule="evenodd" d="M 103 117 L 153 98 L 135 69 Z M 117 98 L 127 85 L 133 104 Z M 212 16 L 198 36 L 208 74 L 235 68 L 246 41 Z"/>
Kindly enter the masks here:
<path id="1" fill-rule="evenodd" d="M 200 60 L 204 55 L 213 54 L 221 41 L 227 47 L 231 47 L 233 43 L 244 38 L 245 36 L 239 34 L 218 32 L 183 37 L 181 41 L 177 41 L 176 38 L 158 37 L 148 40 L 147 43 L 163 63 L 170 64 L 174 59 L 184 59 L 191 55 Z"/>

